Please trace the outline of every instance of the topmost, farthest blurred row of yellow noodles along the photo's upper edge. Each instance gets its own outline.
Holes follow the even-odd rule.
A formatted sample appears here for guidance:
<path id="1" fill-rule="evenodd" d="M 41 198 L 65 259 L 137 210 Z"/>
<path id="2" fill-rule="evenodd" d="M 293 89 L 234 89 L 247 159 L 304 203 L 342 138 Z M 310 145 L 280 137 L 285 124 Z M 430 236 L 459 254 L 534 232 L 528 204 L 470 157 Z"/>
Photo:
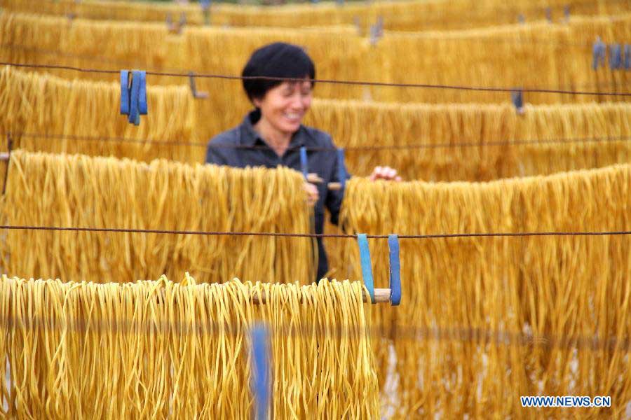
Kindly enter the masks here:
<path id="1" fill-rule="evenodd" d="M 205 16 L 198 4 L 130 3 L 121 1 L 0 0 L 8 10 L 50 15 L 72 15 L 93 20 L 134 20 L 166 22 L 168 16 L 179 20 L 184 15 L 187 24 L 236 27 L 313 27 L 359 25 L 367 31 L 370 25 L 383 20 L 385 29 L 398 31 L 470 29 L 516 23 L 524 20 L 559 21 L 571 15 L 614 15 L 630 11 L 621 0 L 545 0 L 518 1 L 508 5 L 501 0 L 433 0 L 433 1 L 374 1 L 369 3 L 339 3 L 327 1 L 316 6 L 293 4 L 276 7 L 233 6 L 212 4 Z M 549 11 L 547 9 L 550 9 Z M 466 18 L 464 15 L 466 14 Z"/>

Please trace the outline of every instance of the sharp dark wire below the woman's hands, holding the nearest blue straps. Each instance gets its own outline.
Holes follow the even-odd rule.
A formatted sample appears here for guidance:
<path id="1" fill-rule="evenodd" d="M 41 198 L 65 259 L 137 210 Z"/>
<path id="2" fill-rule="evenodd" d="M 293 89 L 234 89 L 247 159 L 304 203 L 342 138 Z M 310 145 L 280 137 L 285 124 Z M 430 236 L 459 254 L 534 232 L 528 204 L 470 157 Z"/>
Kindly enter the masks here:
<path id="1" fill-rule="evenodd" d="M 299 238 L 344 238 L 357 239 L 357 235 L 325 233 L 283 233 L 283 232 L 219 232 L 203 230 L 163 230 L 128 228 L 76 228 L 61 226 L 0 225 L 0 230 L 48 230 L 65 232 L 116 232 L 116 233 L 155 233 L 163 235 L 203 235 L 203 236 L 254 236 L 254 237 L 299 237 Z M 431 235 L 398 235 L 399 239 L 446 239 L 470 237 L 541 237 L 541 236 L 613 236 L 631 235 L 630 230 L 605 232 L 496 232 L 496 233 L 447 233 Z M 389 235 L 367 235 L 369 239 L 388 239 Z"/>

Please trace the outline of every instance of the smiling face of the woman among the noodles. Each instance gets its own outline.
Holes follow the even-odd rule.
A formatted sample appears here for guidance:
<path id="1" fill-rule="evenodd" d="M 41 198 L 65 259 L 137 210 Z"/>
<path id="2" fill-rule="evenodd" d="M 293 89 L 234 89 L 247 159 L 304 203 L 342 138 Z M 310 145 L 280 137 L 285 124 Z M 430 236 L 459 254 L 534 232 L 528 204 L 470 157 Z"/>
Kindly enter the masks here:
<path id="1" fill-rule="evenodd" d="M 292 134 L 298 131 L 311 99 L 310 81 L 285 81 L 268 90 L 263 99 L 255 99 L 254 104 L 261 109 L 266 123 L 279 132 Z"/>

